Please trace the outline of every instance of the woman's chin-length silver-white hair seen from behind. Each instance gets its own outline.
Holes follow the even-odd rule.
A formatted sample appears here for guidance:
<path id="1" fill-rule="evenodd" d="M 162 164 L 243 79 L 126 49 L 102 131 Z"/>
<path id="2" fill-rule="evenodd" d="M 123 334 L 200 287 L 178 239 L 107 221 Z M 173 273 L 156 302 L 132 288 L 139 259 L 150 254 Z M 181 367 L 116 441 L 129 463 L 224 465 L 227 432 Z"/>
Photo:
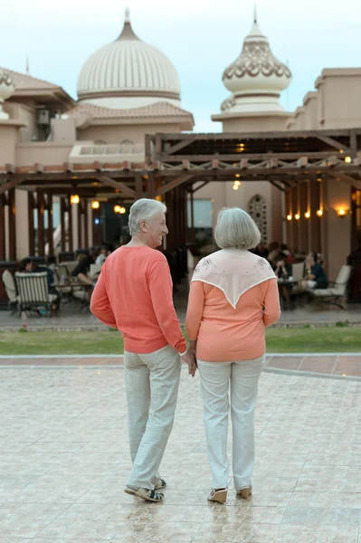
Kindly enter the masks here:
<path id="1" fill-rule="evenodd" d="M 214 239 L 221 249 L 252 249 L 260 243 L 261 232 L 248 213 L 226 207 L 218 214 Z"/>

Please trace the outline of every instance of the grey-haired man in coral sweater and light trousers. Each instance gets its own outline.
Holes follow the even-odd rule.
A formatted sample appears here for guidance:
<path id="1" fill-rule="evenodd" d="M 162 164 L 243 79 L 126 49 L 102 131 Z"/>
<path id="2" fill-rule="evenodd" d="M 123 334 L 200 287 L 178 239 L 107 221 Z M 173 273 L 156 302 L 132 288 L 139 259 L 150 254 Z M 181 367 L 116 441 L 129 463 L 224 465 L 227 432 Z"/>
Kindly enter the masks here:
<path id="1" fill-rule="evenodd" d="M 195 376 L 195 357 L 186 348 L 172 300 L 166 257 L 156 247 L 166 228 L 166 205 L 143 198 L 130 208 L 128 245 L 104 262 L 90 310 L 122 331 L 133 469 L 125 491 L 161 501 L 166 487 L 158 469 L 171 432 L 181 358 Z"/>

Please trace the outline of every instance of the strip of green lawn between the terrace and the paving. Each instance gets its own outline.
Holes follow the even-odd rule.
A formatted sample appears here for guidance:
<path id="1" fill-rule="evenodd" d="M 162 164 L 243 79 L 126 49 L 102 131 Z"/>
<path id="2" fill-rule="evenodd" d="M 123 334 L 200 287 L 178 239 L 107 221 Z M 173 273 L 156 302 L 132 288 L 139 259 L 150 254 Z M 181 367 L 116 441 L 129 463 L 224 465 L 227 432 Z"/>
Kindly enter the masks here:
<path id="1" fill-rule="evenodd" d="M 119 332 L 0 332 L 1 355 L 109 355 L 123 352 Z M 361 352 L 361 328 L 267 330 L 268 353 Z"/>

